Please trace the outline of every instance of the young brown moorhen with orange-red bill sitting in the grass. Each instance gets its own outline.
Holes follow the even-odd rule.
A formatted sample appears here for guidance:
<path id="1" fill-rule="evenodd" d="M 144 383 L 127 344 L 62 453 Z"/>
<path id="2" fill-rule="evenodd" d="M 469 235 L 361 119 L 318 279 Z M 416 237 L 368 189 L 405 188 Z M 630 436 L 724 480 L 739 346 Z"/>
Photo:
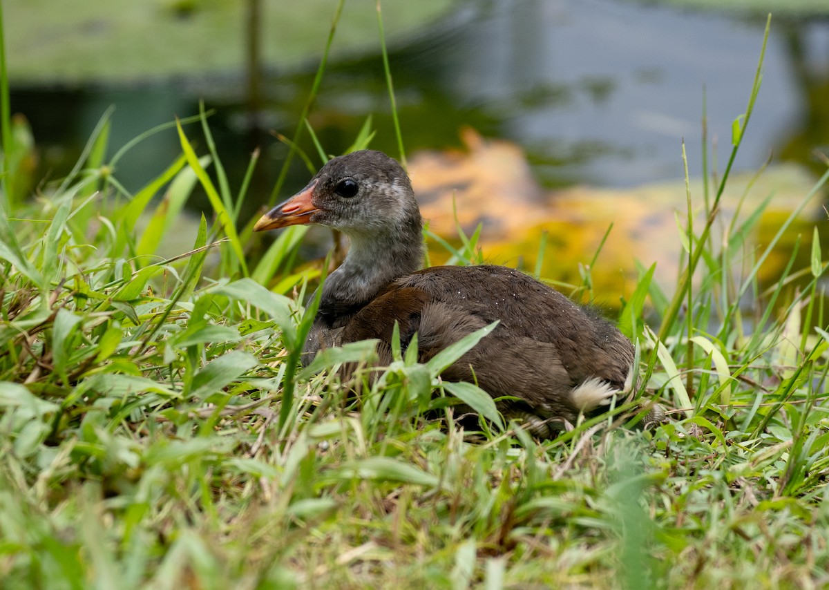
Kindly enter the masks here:
<path id="1" fill-rule="evenodd" d="M 333 158 L 254 230 L 298 224 L 326 225 L 351 240 L 345 261 L 322 287 L 308 357 L 327 346 L 377 338 L 381 362 L 390 362 L 398 322 L 401 345 L 405 349 L 417 332 L 425 361 L 499 320 L 442 378 L 477 382 L 493 398 L 518 398 L 501 404 L 502 413 L 523 418 L 541 437 L 631 389 L 633 346 L 593 310 L 512 268 L 419 270 L 418 204 L 406 172 L 383 152 Z"/>

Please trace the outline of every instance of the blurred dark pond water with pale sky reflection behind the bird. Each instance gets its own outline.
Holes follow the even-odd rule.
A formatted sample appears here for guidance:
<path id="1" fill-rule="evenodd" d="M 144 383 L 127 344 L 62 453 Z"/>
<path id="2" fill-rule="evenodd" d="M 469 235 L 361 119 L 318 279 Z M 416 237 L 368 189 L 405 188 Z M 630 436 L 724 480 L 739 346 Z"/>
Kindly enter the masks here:
<path id="1" fill-rule="evenodd" d="M 764 18 L 622 0 L 458 2 L 442 22 L 389 40 L 405 145 L 410 152 L 457 146 L 458 129 L 471 125 L 523 147 L 545 186 L 679 179 L 683 138 L 691 175 L 701 171 L 705 88 L 710 136 L 723 167 L 764 25 Z M 27 89 L 12 80 L 12 109 L 32 123 L 43 172 L 59 177 L 109 105 L 116 107 L 110 146 L 117 148 L 153 125 L 197 113 L 205 99 L 216 109 L 211 128 L 231 186 L 239 185 L 251 150 L 262 147 L 250 197 L 261 202 L 286 152 L 270 132 L 293 136 L 315 68 L 268 72 L 255 118 L 246 110 L 244 72 L 222 80 L 75 89 Z M 396 154 L 379 51 L 329 66 L 311 122 L 327 151 L 337 153 L 368 114 L 378 132 L 373 147 Z M 199 128 L 187 133 L 204 152 Z M 308 140 L 302 146 L 314 152 Z M 829 149 L 829 21 L 775 18 L 736 169 L 754 170 L 771 156 L 822 172 L 816 149 Z M 137 190 L 179 152 L 176 134 L 167 131 L 135 147 L 116 177 Z M 307 177 L 296 164 L 284 192 Z"/>

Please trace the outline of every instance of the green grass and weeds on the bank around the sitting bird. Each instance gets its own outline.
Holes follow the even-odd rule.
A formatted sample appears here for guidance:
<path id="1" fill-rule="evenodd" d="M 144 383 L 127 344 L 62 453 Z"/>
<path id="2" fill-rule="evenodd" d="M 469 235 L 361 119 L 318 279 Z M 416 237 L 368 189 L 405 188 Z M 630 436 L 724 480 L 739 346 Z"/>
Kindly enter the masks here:
<path id="1" fill-rule="evenodd" d="M 7 192 L 21 185 L 3 160 L 4 588 L 829 583 L 829 336 L 812 327 L 827 326 L 826 264 L 816 246 L 809 268 L 759 293 L 774 244 L 747 245 L 754 211 L 720 224 L 727 173 L 689 195 L 708 215 L 680 219 L 675 292 L 643 267 L 620 312 L 638 395 L 671 421 L 643 433 L 599 418 L 539 442 L 477 389 L 442 386 L 445 358 L 396 351 L 356 395 L 331 370 L 371 343 L 300 370 L 313 317 L 301 302 L 324 268 L 293 264 L 304 230 L 259 252 L 238 219 L 246 183 L 228 185 L 204 117 L 181 122 L 182 157 L 134 195 L 112 172 L 128 149 L 108 159 L 108 133 L 105 115 L 70 177 L 25 199 Z M 4 154 L 25 147 L 3 138 Z M 196 183 L 211 220 L 162 259 Z M 475 240 L 453 260 L 476 260 Z M 464 432 L 458 399 L 492 419 Z"/>

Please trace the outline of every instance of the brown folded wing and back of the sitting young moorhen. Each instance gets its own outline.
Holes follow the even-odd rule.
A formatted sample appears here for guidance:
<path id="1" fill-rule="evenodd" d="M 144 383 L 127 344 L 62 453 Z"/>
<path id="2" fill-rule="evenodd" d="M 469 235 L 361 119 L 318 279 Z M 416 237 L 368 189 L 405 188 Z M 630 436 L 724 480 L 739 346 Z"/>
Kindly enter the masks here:
<path id="1" fill-rule="evenodd" d="M 505 267 L 434 267 L 400 278 L 351 318 L 342 342 L 378 338 L 389 345 L 399 322 L 401 344 L 417 331 L 421 360 L 428 360 L 496 320 L 492 334 L 447 370 L 448 379 L 470 379 L 472 365 L 491 394 L 518 391 L 525 399 L 591 377 L 623 388 L 630 341 L 555 289 Z"/>

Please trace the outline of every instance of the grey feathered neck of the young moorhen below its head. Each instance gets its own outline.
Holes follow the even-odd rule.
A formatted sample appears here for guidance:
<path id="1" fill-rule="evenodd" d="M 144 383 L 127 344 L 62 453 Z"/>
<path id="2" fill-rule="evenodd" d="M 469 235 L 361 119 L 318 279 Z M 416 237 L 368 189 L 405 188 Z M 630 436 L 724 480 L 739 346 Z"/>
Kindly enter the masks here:
<path id="1" fill-rule="evenodd" d="M 350 316 L 371 302 L 386 285 L 423 265 L 419 215 L 387 235 L 351 234 L 348 237 L 351 247 L 345 261 L 328 276 L 322 288 L 321 310 L 341 309 L 343 315 Z"/>

